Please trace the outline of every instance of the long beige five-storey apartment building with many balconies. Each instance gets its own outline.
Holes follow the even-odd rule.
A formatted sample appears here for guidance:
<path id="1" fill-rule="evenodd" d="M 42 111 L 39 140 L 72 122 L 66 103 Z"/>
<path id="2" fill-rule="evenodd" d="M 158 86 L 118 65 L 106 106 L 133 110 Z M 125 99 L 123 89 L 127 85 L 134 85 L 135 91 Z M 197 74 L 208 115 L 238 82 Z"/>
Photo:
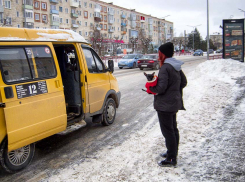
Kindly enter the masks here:
<path id="1" fill-rule="evenodd" d="M 140 31 L 156 46 L 173 38 L 172 22 L 99 0 L 0 0 L 0 26 L 71 29 L 88 41 L 98 30 L 125 45 Z"/>

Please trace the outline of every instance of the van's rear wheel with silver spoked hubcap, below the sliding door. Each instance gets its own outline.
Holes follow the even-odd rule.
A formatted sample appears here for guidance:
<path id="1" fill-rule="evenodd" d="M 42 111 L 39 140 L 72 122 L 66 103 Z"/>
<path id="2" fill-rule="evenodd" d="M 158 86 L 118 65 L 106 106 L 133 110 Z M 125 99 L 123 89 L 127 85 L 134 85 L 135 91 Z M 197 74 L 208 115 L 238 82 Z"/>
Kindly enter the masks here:
<path id="1" fill-rule="evenodd" d="M 8 142 L 5 140 L 0 150 L 0 164 L 8 173 L 14 173 L 27 167 L 33 159 L 35 144 L 29 144 L 8 152 Z"/>

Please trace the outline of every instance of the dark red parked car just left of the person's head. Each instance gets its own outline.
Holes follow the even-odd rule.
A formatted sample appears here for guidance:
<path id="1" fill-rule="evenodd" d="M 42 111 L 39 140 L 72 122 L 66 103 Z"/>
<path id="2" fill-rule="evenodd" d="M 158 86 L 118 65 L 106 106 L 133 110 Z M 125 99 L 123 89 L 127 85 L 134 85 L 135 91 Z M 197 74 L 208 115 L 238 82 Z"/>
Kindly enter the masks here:
<path id="1" fill-rule="evenodd" d="M 158 70 L 160 68 L 158 61 L 158 54 L 147 54 L 138 60 L 138 67 L 140 70 L 144 68 L 152 68 Z"/>

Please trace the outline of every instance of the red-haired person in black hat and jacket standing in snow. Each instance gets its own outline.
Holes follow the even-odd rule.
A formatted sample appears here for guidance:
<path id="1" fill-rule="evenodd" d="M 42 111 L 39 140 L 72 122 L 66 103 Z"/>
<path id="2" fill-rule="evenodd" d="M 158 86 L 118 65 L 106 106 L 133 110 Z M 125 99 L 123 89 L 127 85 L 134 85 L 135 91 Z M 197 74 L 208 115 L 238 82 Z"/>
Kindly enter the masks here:
<path id="1" fill-rule="evenodd" d="M 162 134 L 165 138 L 167 152 L 160 154 L 166 157 L 158 165 L 175 166 L 177 164 L 179 130 L 177 128 L 176 113 L 185 110 L 182 99 L 182 89 L 187 80 L 181 70 L 182 61 L 172 58 L 174 46 L 171 42 L 159 47 L 159 61 L 161 69 L 158 73 L 157 85 L 150 87 L 154 96 L 154 109 L 157 111 Z"/>

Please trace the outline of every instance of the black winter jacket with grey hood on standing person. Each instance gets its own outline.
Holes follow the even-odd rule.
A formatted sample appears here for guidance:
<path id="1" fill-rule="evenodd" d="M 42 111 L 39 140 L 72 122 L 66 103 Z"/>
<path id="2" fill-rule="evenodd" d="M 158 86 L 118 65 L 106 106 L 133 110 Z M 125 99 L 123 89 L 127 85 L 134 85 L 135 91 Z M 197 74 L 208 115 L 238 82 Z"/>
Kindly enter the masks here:
<path id="1" fill-rule="evenodd" d="M 157 85 L 150 87 L 152 92 L 157 93 L 154 96 L 154 109 L 157 111 L 185 110 L 182 89 L 187 85 L 187 79 L 181 70 L 182 64 L 175 58 L 167 58 L 159 71 Z"/>

